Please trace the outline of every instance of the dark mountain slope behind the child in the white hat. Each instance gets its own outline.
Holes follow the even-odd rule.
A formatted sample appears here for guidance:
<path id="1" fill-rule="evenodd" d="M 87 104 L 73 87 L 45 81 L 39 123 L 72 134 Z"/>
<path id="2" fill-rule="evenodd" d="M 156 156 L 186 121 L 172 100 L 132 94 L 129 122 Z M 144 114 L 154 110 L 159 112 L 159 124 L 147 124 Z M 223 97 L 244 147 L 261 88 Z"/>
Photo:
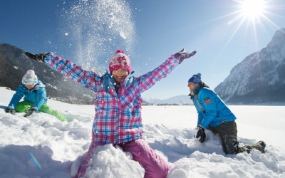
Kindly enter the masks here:
<path id="1" fill-rule="evenodd" d="M 48 98 L 73 104 L 93 104 L 95 95 L 87 88 L 49 68 L 45 63 L 27 58 L 23 50 L 9 44 L 0 44 L 0 86 L 16 90 L 28 69 L 35 70 L 38 78 L 46 83 Z"/>

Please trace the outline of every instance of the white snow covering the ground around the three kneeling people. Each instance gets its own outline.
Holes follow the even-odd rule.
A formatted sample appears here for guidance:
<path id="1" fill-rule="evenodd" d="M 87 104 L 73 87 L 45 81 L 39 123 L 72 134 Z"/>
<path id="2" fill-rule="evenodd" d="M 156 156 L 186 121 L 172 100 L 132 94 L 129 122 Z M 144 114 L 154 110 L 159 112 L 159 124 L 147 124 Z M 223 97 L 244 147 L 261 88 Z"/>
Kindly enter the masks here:
<path id="1" fill-rule="evenodd" d="M 0 88 L 0 177 L 71 177 L 90 145 L 93 105 L 48 100 L 68 118 L 4 112 L 14 91 Z M 229 106 L 237 115 L 241 145 L 259 140 L 266 152 L 224 155 L 219 138 L 206 130 L 200 143 L 197 112 L 188 106 L 143 106 L 144 137 L 170 164 L 167 177 L 285 177 L 284 106 Z M 143 177 L 144 169 L 120 147 L 95 148 L 88 177 Z"/>

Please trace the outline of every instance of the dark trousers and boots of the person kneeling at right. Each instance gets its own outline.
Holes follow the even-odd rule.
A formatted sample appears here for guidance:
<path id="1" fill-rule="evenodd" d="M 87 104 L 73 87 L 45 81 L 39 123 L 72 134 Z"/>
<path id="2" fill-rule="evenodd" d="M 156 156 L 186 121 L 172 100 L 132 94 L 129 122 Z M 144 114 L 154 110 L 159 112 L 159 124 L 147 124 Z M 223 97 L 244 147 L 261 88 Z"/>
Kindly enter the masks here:
<path id="1" fill-rule="evenodd" d="M 218 127 L 208 127 L 208 129 L 214 132 L 214 134 L 219 134 L 219 137 L 222 140 L 223 151 L 226 155 L 237 154 L 239 152 L 249 153 L 252 149 L 264 152 L 264 147 L 259 144 L 239 147 L 239 141 L 237 140 L 237 124 L 235 121 L 224 123 Z"/>

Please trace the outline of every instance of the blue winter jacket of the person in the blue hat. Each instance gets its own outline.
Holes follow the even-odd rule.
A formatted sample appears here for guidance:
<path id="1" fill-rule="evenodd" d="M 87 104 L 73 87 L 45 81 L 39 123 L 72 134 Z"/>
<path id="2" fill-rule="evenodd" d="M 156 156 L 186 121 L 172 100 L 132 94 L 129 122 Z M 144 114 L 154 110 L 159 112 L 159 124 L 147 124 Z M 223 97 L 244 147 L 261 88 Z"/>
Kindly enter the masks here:
<path id="1" fill-rule="evenodd" d="M 232 113 L 224 101 L 219 98 L 217 93 L 209 88 L 200 88 L 198 85 L 194 90 L 193 103 L 198 112 L 197 126 L 203 128 L 218 127 L 224 123 L 236 120 L 237 117 Z"/>

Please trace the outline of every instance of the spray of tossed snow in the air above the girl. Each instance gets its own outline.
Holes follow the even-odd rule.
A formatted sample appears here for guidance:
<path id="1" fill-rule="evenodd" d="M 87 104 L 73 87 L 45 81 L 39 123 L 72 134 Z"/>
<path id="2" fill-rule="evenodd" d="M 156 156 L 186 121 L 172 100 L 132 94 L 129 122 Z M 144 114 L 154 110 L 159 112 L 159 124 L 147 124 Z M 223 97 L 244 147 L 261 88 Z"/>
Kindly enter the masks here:
<path id="1" fill-rule="evenodd" d="M 86 70 L 102 68 L 118 48 L 133 49 L 135 22 L 125 0 L 79 0 L 63 9 L 61 19 L 69 37 L 63 40 L 73 44 L 74 58 Z"/>

